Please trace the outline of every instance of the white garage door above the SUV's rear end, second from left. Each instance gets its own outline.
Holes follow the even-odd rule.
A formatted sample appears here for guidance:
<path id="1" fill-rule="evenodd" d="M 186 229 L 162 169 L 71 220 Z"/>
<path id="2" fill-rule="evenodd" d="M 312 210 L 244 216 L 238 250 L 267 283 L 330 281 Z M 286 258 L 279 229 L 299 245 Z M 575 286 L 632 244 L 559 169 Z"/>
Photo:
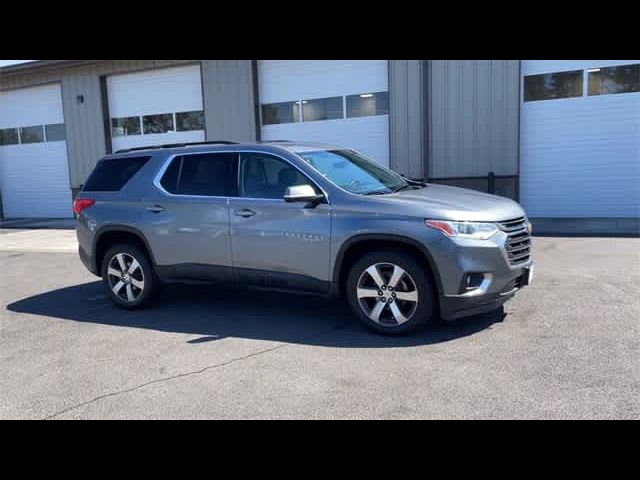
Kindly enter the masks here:
<path id="1" fill-rule="evenodd" d="M 114 152 L 204 141 L 200 65 L 114 75 L 107 91 Z"/>

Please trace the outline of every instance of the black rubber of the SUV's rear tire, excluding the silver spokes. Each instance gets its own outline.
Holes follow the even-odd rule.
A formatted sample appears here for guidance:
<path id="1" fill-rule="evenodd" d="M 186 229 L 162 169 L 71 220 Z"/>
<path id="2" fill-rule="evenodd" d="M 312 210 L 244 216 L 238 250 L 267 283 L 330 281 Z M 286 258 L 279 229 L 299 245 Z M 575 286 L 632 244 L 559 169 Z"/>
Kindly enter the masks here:
<path id="1" fill-rule="evenodd" d="M 121 258 L 125 259 L 125 266 L 127 267 L 133 263 L 129 261 L 130 259 L 135 259 L 139 264 L 136 271 L 130 275 L 129 281 L 123 282 L 124 285 L 120 286 L 119 294 L 113 289 L 113 287 L 117 287 L 118 285 L 117 277 L 109 275 L 110 265 L 113 265 L 116 270 L 120 269 L 118 259 L 116 258 L 117 255 L 123 255 Z M 102 282 L 104 283 L 109 298 L 111 298 L 117 306 L 127 310 L 143 307 L 149 302 L 157 290 L 158 281 L 151 262 L 147 258 L 147 255 L 135 245 L 120 243 L 112 246 L 104 255 L 100 272 L 102 273 Z M 141 280 L 143 288 L 138 288 L 136 285 L 141 285 Z M 127 285 L 127 283 L 131 285 Z M 132 295 L 135 295 L 133 301 L 126 298 L 128 296 L 127 288 L 129 287 L 131 288 Z"/>

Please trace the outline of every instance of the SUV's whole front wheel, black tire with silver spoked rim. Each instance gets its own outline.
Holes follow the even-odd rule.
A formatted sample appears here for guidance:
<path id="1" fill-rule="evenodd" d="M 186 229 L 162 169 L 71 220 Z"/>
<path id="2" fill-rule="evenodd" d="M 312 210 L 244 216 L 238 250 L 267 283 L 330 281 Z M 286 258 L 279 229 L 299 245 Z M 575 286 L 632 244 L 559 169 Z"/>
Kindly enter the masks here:
<path id="1" fill-rule="evenodd" d="M 372 252 L 356 261 L 347 277 L 346 296 L 365 325 L 388 335 L 410 332 L 433 317 L 429 276 L 404 252 Z"/>

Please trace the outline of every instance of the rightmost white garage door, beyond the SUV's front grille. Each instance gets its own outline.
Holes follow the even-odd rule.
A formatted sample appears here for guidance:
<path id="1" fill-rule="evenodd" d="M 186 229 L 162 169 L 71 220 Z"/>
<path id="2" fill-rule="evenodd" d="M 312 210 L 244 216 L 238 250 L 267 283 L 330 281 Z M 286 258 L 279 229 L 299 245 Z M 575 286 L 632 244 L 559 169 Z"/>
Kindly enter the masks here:
<path id="1" fill-rule="evenodd" d="M 523 61 L 530 217 L 640 216 L 640 60 Z"/>

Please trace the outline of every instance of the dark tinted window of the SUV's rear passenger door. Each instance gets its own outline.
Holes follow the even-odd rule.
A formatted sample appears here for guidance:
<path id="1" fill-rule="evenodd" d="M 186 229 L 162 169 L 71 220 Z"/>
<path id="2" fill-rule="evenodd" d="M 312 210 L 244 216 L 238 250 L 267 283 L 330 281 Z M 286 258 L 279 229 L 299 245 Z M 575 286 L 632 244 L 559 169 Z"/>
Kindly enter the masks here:
<path id="1" fill-rule="evenodd" d="M 237 158 L 236 153 L 184 155 L 177 172 L 177 193 L 213 197 L 236 196 Z M 168 178 L 167 182 L 170 180 Z"/>

